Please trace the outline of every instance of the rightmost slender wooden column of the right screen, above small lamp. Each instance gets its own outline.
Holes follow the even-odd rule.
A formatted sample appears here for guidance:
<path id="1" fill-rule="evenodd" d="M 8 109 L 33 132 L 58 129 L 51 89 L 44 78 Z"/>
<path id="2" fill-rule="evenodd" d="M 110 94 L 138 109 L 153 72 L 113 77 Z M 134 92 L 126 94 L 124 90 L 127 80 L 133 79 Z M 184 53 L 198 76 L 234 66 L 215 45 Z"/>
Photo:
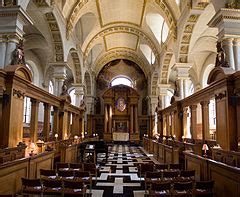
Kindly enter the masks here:
<path id="1" fill-rule="evenodd" d="M 202 124 L 203 124 L 203 129 L 202 129 L 202 138 L 203 140 L 208 140 L 210 139 L 210 134 L 209 134 L 209 101 L 202 101 L 200 102 L 201 107 L 202 107 Z"/>

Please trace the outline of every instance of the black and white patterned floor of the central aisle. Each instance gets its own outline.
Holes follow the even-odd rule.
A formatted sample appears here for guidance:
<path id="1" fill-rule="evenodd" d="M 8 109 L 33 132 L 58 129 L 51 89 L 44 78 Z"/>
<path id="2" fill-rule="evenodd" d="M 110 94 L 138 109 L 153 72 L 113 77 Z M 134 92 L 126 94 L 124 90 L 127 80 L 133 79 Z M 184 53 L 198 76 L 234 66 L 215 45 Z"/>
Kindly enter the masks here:
<path id="1" fill-rule="evenodd" d="M 109 148 L 106 164 L 99 166 L 97 182 L 94 181 L 93 197 L 144 196 L 144 178 L 138 176 L 136 164 L 154 162 L 140 147 L 114 145 Z"/>

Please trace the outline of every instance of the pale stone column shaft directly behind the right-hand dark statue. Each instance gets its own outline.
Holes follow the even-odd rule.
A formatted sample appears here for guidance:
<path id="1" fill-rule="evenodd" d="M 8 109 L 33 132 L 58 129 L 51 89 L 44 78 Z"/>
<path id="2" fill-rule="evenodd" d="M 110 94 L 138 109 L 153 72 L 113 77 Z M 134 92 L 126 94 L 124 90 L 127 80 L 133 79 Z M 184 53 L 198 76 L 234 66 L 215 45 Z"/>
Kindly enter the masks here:
<path id="1" fill-rule="evenodd" d="M 226 60 L 232 69 L 235 70 L 234 54 L 233 54 L 233 38 L 225 38 L 223 40 L 223 49 L 226 53 Z"/>

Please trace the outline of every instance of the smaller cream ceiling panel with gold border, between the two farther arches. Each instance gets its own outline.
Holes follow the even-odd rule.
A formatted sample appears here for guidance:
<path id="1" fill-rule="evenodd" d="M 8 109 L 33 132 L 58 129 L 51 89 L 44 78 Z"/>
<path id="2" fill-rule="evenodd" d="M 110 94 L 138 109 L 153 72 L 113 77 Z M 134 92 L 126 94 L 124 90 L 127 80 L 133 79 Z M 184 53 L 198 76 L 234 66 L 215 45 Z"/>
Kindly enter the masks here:
<path id="1" fill-rule="evenodd" d="M 105 42 L 107 50 L 114 48 L 136 50 L 138 36 L 129 33 L 113 33 L 105 36 Z"/>

